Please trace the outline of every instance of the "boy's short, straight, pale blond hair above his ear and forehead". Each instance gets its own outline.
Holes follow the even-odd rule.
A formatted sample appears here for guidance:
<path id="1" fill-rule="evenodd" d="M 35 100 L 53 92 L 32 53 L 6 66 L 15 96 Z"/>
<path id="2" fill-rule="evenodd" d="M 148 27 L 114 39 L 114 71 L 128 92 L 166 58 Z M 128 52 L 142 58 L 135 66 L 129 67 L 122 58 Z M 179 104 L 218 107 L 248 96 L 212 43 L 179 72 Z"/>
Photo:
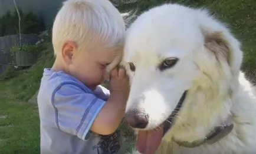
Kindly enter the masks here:
<path id="1" fill-rule="evenodd" d="M 107 0 L 67 0 L 52 26 L 54 54 L 66 41 L 83 50 L 101 41 L 109 47 L 122 45 L 125 24 L 120 12 Z"/>

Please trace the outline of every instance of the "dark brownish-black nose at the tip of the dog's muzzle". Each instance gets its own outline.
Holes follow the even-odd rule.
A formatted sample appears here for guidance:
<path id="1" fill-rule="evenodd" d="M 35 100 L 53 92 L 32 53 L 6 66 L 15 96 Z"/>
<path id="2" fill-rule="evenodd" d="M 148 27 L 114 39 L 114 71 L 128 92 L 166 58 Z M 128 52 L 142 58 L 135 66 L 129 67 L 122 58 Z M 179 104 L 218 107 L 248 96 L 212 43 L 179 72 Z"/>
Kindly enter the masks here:
<path id="1" fill-rule="evenodd" d="M 149 115 L 139 109 L 126 112 L 125 119 L 133 128 L 146 128 L 147 123 L 149 123 Z"/>

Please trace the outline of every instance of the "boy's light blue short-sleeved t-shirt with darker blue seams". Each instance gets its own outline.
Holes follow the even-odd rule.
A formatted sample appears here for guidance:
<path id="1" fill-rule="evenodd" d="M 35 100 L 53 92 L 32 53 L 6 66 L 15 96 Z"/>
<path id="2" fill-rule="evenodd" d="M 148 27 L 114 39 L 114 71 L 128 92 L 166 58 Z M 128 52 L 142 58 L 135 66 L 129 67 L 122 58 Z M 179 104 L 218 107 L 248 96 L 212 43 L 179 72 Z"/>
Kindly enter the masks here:
<path id="1" fill-rule="evenodd" d="M 107 136 L 90 131 L 108 97 L 103 86 L 91 91 L 73 76 L 45 68 L 37 98 L 41 154 L 123 154 L 119 131 Z"/>

